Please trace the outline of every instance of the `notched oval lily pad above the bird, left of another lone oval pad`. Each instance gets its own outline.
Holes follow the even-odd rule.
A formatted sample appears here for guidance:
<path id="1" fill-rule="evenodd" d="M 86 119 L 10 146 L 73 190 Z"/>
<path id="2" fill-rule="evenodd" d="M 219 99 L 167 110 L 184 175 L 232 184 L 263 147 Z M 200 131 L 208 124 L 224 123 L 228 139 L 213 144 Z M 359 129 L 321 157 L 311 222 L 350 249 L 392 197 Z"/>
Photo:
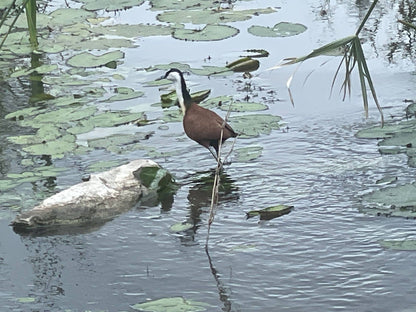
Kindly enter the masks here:
<path id="1" fill-rule="evenodd" d="M 183 13 L 182 13 L 183 14 Z M 239 33 L 237 28 L 228 25 L 206 25 L 202 29 L 176 29 L 173 37 L 190 41 L 216 41 L 234 37 Z"/>

